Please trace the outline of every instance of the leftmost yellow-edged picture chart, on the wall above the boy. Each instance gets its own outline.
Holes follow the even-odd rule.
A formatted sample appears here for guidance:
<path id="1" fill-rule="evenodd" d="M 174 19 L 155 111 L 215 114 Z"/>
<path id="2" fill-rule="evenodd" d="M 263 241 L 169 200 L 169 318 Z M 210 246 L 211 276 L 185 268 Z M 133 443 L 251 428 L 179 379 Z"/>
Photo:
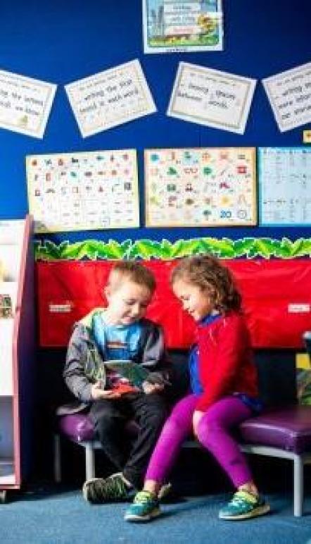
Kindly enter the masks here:
<path id="1" fill-rule="evenodd" d="M 139 227 L 135 149 L 26 157 L 36 233 Z"/>

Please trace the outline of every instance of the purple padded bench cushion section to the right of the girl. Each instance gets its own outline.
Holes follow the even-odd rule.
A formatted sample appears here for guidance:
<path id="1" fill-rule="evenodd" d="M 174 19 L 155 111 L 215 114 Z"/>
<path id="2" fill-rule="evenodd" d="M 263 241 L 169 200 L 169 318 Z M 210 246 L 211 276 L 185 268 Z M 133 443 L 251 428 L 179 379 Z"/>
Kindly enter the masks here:
<path id="1" fill-rule="evenodd" d="M 244 443 L 279 447 L 301 454 L 311 450 L 311 407 L 276 409 L 240 425 Z"/>

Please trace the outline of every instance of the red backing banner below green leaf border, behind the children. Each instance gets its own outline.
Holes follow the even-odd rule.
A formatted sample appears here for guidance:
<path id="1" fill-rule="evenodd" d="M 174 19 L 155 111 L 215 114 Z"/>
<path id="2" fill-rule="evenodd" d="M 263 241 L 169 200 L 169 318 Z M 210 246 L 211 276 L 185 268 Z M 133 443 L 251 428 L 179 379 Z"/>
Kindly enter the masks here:
<path id="1" fill-rule="evenodd" d="M 160 323 L 167 347 L 187 348 L 194 339 L 193 320 L 170 290 L 176 261 L 144 261 L 157 280 L 147 317 Z M 234 273 L 243 295 L 253 347 L 302 346 L 311 330 L 311 263 L 309 259 L 232 259 L 223 261 Z M 42 347 L 65 346 L 72 324 L 103 306 L 103 287 L 114 261 L 39 261 L 37 293 Z"/>

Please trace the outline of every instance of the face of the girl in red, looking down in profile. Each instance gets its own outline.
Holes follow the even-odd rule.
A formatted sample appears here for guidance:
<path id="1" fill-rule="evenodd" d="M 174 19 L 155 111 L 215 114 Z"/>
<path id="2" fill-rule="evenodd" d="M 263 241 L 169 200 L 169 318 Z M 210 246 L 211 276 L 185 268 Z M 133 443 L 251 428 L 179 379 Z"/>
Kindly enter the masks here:
<path id="1" fill-rule="evenodd" d="M 172 290 L 177 298 L 182 302 L 182 307 L 193 317 L 195 321 L 200 321 L 208 316 L 214 309 L 210 294 L 193 283 L 187 283 L 179 278 L 172 285 Z"/>

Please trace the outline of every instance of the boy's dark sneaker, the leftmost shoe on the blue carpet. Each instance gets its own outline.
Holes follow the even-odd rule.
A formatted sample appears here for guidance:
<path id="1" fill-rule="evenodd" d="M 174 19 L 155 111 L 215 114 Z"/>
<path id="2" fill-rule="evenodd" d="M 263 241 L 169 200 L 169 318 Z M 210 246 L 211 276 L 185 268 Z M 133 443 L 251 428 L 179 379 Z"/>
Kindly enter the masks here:
<path id="1" fill-rule="evenodd" d="M 132 500 L 136 491 L 126 486 L 122 473 L 118 472 L 109 478 L 91 478 L 82 488 L 84 499 L 94 505 L 103 502 L 122 502 Z"/>

